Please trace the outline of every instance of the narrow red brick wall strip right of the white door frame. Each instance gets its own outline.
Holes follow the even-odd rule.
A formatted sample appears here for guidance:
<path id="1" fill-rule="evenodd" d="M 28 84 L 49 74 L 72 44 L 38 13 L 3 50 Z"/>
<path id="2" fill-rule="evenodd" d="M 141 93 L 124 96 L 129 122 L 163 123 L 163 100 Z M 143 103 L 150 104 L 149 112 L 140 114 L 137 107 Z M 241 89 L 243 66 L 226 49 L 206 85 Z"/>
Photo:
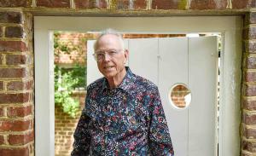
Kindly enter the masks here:
<path id="1" fill-rule="evenodd" d="M 254 2 L 255 4 L 255 2 Z M 247 14 L 244 23 L 244 49 L 241 90 L 241 148 L 242 155 L 256 153 L 256 13 Z"/>

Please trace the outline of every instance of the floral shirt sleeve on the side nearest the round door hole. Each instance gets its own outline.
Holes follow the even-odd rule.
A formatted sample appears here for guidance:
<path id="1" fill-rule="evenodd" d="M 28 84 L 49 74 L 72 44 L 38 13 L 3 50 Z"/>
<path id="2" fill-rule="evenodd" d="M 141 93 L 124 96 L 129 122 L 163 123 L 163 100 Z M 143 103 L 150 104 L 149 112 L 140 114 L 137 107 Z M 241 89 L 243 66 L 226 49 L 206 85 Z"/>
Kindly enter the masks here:
<path id="1" fill-rule="evenodd" d="M 149 148 L 153 155 L 173 156 L 171 136 L 166 123 L 166 116 L 157 90 L 151 103 L 151 121 L 149 128 Z"/>

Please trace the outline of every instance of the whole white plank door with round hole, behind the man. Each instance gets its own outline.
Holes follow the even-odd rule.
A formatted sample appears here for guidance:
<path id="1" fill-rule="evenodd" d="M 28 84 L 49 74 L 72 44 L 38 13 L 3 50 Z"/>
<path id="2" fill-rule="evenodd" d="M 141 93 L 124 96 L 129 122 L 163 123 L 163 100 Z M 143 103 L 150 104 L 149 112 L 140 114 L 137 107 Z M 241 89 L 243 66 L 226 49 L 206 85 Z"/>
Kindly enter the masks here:
<path id="1" fill-rule="evenodd" d="M 128 43 L 127 43 L 128 42 Z M 102 75 L 88 42 L 88 83 Z M 214 156 L 217 153 L 216 37 L 126 39 L 132 72 L 159 86 L 177 156 Z M 177 109 L 169 101 L 174 84 L 186 84 L 192 95 L 189 107 Z"/>

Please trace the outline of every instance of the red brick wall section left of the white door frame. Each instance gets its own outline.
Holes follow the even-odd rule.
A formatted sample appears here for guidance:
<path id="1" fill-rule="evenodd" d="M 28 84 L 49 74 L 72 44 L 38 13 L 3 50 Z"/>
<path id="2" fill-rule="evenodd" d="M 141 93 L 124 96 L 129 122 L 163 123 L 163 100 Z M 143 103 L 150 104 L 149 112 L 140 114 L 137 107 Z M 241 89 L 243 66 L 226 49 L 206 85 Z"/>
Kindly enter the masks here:
<path id="1" fill-rule="evenodd" d="M 1 12 L 0 155 L 34 153 L 33 82 L 32 14 Z"/>

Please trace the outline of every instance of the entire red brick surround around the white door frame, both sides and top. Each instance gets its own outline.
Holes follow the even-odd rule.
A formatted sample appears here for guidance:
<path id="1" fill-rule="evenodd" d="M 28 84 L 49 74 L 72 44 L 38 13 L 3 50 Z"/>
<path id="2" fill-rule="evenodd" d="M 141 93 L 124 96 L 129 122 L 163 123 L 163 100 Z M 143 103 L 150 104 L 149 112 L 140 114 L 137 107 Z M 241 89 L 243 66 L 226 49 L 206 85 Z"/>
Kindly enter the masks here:
<path id="1" fill-rule="evenodd" d="M 108 16 L 127 15 L 126 11 L 131 15 L 247 14 L 241 66 L 241 155 L 256 154 L 255 0 L 0 0 L 0 7 L 0 155 L 34 154 L 32 14 Z"/>

